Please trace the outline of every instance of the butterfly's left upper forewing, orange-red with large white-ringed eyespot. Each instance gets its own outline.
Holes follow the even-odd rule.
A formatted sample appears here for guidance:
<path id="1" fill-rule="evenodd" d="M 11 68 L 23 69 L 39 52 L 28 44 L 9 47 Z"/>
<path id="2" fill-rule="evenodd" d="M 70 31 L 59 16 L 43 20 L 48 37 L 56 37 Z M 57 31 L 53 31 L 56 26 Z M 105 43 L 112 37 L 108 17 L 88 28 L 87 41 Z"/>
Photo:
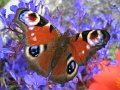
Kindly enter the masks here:
<path id="1" fill-rule="evenodd" d="M 47 44 L 60 36 L 60 33 L 43 16 L 26 8 L 17 10 L 14 22 L 24 32 L 27 45 Z"/>

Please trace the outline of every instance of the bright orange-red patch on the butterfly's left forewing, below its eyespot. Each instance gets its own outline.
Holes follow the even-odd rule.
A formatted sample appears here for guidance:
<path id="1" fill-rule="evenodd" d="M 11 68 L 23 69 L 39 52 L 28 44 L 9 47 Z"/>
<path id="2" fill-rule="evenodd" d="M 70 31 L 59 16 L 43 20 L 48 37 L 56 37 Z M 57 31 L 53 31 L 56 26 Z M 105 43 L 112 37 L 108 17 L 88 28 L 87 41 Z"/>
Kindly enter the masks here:
<path id="1" fill-rule="evenodd" d="M 33 34 L 33 36 L 32 36 Z M 59 37 L 59 33 L 56 29 L 50 32 L 49 26 L 34 26 L 33 30 L 26 31 L 26 42 L 30 45 L 47 44 L 48 42 L 54 41 Z"/>

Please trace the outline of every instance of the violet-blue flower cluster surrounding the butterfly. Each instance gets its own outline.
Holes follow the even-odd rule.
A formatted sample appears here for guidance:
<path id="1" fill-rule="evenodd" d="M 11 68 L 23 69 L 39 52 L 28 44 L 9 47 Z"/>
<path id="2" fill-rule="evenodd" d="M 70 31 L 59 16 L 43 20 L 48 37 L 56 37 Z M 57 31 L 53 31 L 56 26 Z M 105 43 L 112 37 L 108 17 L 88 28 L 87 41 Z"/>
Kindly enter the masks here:
<path id="1" fill-rule="evenodd" d="M 61 30 L 61 33 L 65 32 L 66 29 L 70 29 L 71 34 L 89 29 L 102 29 L 109 24 L 111 26 L 111 30 L 109 31 L 111 35 L 110 41 L 105 48 L 97 52 L 96 56 L 94 56 L 95 58 L 93 57 L 88 61 L 87 66 L 79 66 L 76 77 L 65 83 L 63 87 L 60 84 L 54 83 L 49 81 L 47 78 L 37 75 L 35 72 L 28 71 L 27 63 L 24 58 L 24 45 L 21 43 L 21 39 L 17 37 L 20 32 L 16 30 L 16 24 L 12 21 L 18 8 L 29 8 L 40 14 L 44 12 L 42 13 L 44 14 L 44 17 Z M 0 27 L 0 89 L 82 90 L 88 86 L 90 90 L 96 90 L 93 89 L 94 86 L 92 83 L 95 82 L 92 80 L 97 79 L 97 77 L 93 76 L 94 74 L 99 75 L 99 72 L 104 70 L 104 64 L 101 64 L 101 62 L 105 59 L 106 64 L 104 67 L 118 64 L 115 60 L 111 60 L 111 62 L 108 60 L 110 58 L 119 59 L 116 58 L 115 53 L 120 47 L 120 26 L 110 14 L 100 14 L 98 16 L 92 15 L 88 17 L 87 9 L 88 8 L 81 0 L 74 0 L 74 15 L 66 16 L 65 20 L 63 20 L 64 11 L 57 9 L 57 13 L 51 14 L 49 9 L 44 5 L 44 0 L 39 0 L 37 4 L 35 0 L 20 0 L 17 6 L 12 5 L 10 7 L 10 10 L 14 14 L 9 14 L 8 16 L 6 15 L 6 10 L 4 8 L 0 9 L 0 24 L 2 24 Z M 88 23 L 88 18 L 90 19 L 91 24 Z M 67 24 L 64 24 L 64 21 Z M 119 57 L 119 55 L 117 55 L 117 57 Z M 112 66 L 110 66 L 110 68 L 111 70 L 114 70 Z M 116 74 L 119 76 L 118 73 Z M 119 81 L 120 79 L 118 80 L 118 84 Z M 101 82 L 99 84 L 101 84 Z M 107 82 L 107 85 L 108 84 L 109 83 Z"/>

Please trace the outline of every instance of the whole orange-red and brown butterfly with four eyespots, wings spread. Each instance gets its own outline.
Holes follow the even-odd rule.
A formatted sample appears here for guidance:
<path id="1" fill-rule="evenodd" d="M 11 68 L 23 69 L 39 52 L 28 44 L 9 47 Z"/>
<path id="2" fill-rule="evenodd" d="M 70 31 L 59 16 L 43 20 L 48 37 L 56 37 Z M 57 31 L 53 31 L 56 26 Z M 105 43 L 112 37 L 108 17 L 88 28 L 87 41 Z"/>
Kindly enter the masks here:
<path id="1" fill-rule="evenodd" d="M 87 30 L 73 36 L 69 31 L 61 34 L 43 16 L 27 8 L 17 10 L 14 22 L 23 31 L 29 68 L 61 84 L 72 80 L 78 66 L 110 39 L 106 29 Z"/>

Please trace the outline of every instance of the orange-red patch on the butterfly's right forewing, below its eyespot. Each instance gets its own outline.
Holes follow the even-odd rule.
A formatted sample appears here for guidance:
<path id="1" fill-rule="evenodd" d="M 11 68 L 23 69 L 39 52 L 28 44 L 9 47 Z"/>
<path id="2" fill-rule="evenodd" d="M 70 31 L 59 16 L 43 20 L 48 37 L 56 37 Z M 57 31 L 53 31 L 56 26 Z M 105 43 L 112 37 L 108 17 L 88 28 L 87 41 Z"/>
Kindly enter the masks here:
<path id="1" fill-rule="evenodd" d="M 78 64 L 83 63 L 84 60 L 87 59 L 91 48 L 92 47 L 87 42 L 83 41 L 81 37 L 76 39 L 76 35 L 74 35 L 71 38 L 70 51 Z"/>

